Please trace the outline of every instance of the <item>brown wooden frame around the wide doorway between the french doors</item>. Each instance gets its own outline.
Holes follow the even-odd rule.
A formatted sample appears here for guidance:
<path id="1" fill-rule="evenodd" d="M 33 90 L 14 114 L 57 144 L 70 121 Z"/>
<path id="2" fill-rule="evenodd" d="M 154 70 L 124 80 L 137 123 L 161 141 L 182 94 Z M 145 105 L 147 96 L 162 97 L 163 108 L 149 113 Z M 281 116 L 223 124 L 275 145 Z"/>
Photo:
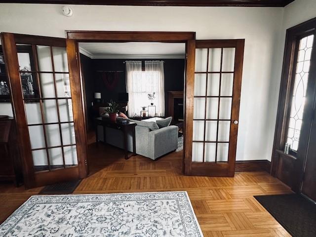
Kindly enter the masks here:
<path id="1" fill-rule="evenodd" d="M 193 136 L 193 91 L 195 68 L 195 32 L 140 32 L 140 31 L 66 31 L 67 39 L 79 42 L 168 42 L 185 43 L 185 81 L 184 81 L 184 147 L 183 147 L 183 171 L 185 164 L 192 159 Z M 80 60 L 80 58 L 79 58 Z M 81 67 L 80 67 L 81 68 Z M 80 69 L 81 70 L 81 69 Z M 82 76 L 82 73 L 81 73 Z M 82 79 L 81 79 L 82 81 Z M 84 83 L 82 83 L 85 94 Z M 189 86 L 187 86 L 189 85 Z M 84 115 L 87 116 L 86 102 L 84 101 Z M 186 139 L 187 138 L 187 139 Z M 186 152 L 191 151 L 191 152 Z"/>

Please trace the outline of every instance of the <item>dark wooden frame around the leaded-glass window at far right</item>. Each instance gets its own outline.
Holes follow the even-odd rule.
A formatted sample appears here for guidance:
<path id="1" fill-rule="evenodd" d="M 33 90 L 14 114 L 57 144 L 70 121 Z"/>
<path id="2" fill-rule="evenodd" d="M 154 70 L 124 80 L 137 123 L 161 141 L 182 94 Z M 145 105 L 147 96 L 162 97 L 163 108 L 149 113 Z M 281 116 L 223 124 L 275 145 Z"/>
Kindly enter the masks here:
<path id="1" fill-rule="evenodd" d="M 300 143 L 297 153 L 284 154 L 283 151 L 287 138 L 289 114 L 291 111 L 299 40 L 315 31 L 316 18 L 312 18 L 286 30 L 282 75 L 276 114 L 275 136 L 271 158 L 270 174 L 290 186 L 292 190 L 297 193 L 301 192 L 301 183 L 304 178 L 304 167 L 308 153 L 309 134 L 313 121 L 313 109 L 311 108 L 314 108 L 314 101 L 307 101 L 304 108 L 304 123 L 301 128 Z M 314 45 L 315 40 L 316 39 L 314 39 Z M 316 58 L 315 55 L 312 55 L 312 57 Z M 313 60 L 312 57 L 311 60 Z M 311 64 L 310 70 L 312 69 L 312 66 L 313 65 Z M 315 72 L 310 71 L 309 83 L 311 83 L 310 79 L 313 77 L 315 77 Z M 308 97 L 311 98 L 312 93 L 314 93 L 313 90 L 314 88 L 307 89 Z"/>

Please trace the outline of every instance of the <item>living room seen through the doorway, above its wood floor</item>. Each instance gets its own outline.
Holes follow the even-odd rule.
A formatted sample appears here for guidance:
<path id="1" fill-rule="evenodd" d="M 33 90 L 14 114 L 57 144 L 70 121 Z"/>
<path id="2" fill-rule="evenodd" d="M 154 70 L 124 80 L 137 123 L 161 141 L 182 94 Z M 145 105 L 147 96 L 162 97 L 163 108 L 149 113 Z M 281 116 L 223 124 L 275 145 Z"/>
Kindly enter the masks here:
<path id="1" fill-rule="evenodd" d="M 185 43 L 79 42 L 79 53 L 89 143 L 125 150 L 126 128 L 128 152 L 134 142 L 138 155 L 154 160 L 183 150 Z M 109 127 L 111 101 L 118 106 L 119 125 Z M 139 126 L 158 126 L 149 127 L 155 132 L 122 126 L 126 117 Z"/>

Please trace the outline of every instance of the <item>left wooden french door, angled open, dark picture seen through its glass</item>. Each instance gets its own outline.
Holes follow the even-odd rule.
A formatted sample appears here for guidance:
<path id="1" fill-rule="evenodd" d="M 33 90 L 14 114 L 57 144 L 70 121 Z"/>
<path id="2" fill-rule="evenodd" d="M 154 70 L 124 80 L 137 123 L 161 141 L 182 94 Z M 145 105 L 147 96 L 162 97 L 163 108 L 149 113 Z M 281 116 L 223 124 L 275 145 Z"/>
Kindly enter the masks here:
<path id="1" fill-rule="evenodd" d="M 11 33 L 1 42 L 26 188 L 86 177 L 77 43 Z"/>

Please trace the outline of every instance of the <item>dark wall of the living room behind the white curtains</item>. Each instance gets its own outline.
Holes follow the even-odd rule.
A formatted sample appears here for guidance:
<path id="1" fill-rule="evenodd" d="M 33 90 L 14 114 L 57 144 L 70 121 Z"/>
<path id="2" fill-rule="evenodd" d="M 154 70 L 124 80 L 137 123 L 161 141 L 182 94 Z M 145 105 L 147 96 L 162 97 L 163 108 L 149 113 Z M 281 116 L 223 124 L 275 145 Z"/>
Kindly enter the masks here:
<path id="1" fill-rule="evenodd" d="M 91 107 L 94 92 L 101 92 L 104 102 L 110 99 L 117 100 L 118 93 L 126 92 L 125 83 L 125 64 L 126 60 L 133 59 L 90 59 L 80 54 L 81 65 L 85 81 L 87 109 Z M 164 61 L 164 93 L 165 93 L 165 112 L 168 108 L 168 91 L 183 91 L 184 89 L 184 68 L 185 59 L 134 59 L 142 61 L 143 67 L 145 60 Z M 111 89 L 107 88 L 102 73 L 98 71 L 121 71 L 117 75 L 117 82 Z M 91 113 L 90 113 L 91 114 Z M 89 122 L 88 122 L 89 123 Z"/>

